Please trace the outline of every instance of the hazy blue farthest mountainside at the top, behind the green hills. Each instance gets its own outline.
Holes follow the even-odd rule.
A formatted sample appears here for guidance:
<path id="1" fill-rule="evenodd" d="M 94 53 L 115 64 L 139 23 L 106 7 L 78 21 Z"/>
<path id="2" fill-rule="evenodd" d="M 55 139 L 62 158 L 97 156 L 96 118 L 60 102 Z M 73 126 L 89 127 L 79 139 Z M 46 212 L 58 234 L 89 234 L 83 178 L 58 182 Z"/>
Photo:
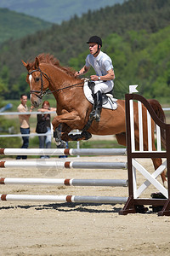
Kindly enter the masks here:
<path id="1" fill-rule="evenodd" d="M 0 0 L 1 8 L 8 8 L 19 13 L 31 15 L 60 24 L 74 15 L 81 16 L 88 10 L 97 10 L 125 0 Z"/>

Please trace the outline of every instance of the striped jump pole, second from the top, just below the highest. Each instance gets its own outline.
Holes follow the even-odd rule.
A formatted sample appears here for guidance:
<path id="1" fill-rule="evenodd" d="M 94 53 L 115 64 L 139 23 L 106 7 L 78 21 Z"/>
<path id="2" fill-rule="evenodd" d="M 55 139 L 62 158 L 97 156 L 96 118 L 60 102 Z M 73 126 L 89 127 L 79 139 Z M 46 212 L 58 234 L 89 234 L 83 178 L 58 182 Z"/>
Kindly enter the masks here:
<path id="1" fill-rule="evenodd" d="M 0 161 L 0 168 L 7 167 L 54 167 L 74 169 L 127 169 L 125 162 L 78 162 L 78 161 L 54 161 L 54 160 L 8 160 Z"/>

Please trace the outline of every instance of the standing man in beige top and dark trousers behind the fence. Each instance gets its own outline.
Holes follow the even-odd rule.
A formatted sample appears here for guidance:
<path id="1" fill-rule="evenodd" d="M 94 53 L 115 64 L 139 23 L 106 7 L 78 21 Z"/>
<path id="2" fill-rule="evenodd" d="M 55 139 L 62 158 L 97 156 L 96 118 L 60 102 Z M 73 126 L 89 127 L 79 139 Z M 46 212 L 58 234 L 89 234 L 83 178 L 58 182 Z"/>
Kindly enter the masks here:
<path id="1" fill-rule="evenodd" d="M 26 106 L 27 102 L 27 96 L 26 94 L 22 94 L 20 96 L 20 105 L 18 106 L 17 110 L 18 112 L 28 112 L 28 108 Z M 34 108 L 31 106 L 30 112 Z M 19 120 L 20 120 L 20 133 L 21 134 L 30 134 L 30 119 L 31 114 L 19 114 Z M 29 146 L 29 137 L 22 137 L 23 144 L 21 148 L 28 148 Z M 27 155 L 17 155 L 16 160 L 20 159 L 27 159 Z"/>

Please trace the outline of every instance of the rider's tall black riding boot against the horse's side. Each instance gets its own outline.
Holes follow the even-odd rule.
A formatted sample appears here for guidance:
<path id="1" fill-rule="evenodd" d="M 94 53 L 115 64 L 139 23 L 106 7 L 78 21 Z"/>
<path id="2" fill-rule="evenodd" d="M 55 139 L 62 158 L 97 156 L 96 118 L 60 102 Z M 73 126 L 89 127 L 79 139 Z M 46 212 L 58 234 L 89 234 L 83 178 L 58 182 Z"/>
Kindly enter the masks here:
<path id="1" fill-rule="evenodd" d="M 101 91 L 98 90 L 98 92 L 94 94 L 94 111 L 90 113 L 90 119 L 95 119 L 97 122 L 99 122 L 101 108 L 102 108 L 102 94 L 101 94 Z"/>

